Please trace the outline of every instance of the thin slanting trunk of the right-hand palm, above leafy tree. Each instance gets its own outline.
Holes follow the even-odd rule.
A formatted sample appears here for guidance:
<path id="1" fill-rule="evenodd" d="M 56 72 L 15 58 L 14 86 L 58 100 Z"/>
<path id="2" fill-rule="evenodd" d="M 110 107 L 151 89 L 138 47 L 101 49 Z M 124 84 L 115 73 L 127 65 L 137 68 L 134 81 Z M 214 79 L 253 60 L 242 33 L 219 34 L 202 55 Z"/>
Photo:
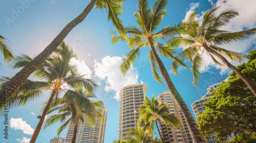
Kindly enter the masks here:
<path id="1" fill-rule="evenodd" d="M 206 43 L 203 43 L 202 46 L 204 47 L 204 49 L 206 51 L 208 51 L 208 52 L 214 54 L 215 56 L 217 56 L 225 65 L 227 65 L 230 69 L 232 69 L 234 71 L 234 73 L 236 73 L 244 81 L 244 83 L 249 87 L 251 92 L 256 97 L 256 87 L 254 86 L 254 84 L 247 77 L 244 76 L 244 74 L 242 74 L 242 72 L 236 66 L 233 66 L 231 63 L 229 63 L 227 61 L 227 59 L 225 57 L 223 57 L 222 55 L 220 55 L 216 51 L 210 49 L 209 46 Z"/>

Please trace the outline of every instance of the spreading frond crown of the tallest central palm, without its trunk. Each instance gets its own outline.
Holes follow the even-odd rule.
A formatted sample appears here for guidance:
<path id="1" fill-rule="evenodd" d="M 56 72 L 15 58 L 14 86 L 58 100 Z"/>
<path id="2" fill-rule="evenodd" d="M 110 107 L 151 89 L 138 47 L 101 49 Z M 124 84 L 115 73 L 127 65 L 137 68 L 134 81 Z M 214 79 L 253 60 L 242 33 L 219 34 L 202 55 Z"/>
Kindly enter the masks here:
<path id="1" fill-rule="evenodd" d="M 134 13 L 134 16 L 137 18 L 137 25 L 133 24 L 125 27 L 128 39 L 123 35 L 117 35 L 117 32 L 115 31 L 110 31 L 110 33 L 114 35 L 112 37 L 112 43 L 126 41 L 127 45 L 132 49 L 125 55 L 123 62 L 120 65 L 120 70 L 123 75 L 125 75 L 136 61 L 137 57 L 139 57 L 140 48 L 150 46 L 148 37 L 153 38 L 153 44 L 155 44 L 158 54 L 165 58 L 170 58 L 187 68 L 182 60 L 173 56 L 173 54 L 175 54 L 174 49 L 165 47 L 159 42 L 160 40 L 165 40 L 167 37 L 180 34 L 181 31 L 184 30 L 181 23 L 174 23 L 173 27 L 167 26 L 156 32 L 162 23 L 163 16 L 167 13 L 167 10 L 164 9 L 167 2 L 168 0 L 155 0 L 154 7 L 150 8 L 147 0 L 138 0 L 138 10 Z M 148 53 L 148 60 L 151 62 L 153 77 L 157 82 L 163 84 L 162 78 L 159 75 L 159 67 L 152 51 L 149 51 Z"/>

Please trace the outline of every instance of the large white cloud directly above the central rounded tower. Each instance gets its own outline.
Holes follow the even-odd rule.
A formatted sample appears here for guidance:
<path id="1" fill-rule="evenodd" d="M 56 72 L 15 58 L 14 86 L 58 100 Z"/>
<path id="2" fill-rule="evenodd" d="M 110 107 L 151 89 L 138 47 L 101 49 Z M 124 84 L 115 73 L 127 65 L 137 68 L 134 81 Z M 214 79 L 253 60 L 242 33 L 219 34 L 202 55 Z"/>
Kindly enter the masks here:
<path id="1" fill-rule="evenodd" d="M 119 65 L 121 64 L 121 57 L 106 56 L 101 59 L 101 62 L 94 61 L 95 77 L 100 80 L 105 80 L 105 91 L 114 91 L 116 96 L 114 99 L 119 99 L 119 92 L 121 88 L 126 85 L 138 84 L 138 71 L 136 68 L 131 67 L 126 73 L 125 77 L 122 75 Z M 142 81 L 141 81 L 142 82 Z"/>

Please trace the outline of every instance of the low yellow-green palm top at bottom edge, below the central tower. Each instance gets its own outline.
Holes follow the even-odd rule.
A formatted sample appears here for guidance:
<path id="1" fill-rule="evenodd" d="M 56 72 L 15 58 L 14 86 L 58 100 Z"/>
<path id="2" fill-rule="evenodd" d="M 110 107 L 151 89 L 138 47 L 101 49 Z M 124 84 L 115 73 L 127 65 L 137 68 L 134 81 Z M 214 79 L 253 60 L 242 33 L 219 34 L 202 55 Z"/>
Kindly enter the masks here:
<path id="1" fill-rule="evenodd" d="M 160 143 L 159 139 L 154 137 L 154 132 L 143 128 L 132 129 L 128 135 L 131 135 L 128 143 Z"/>

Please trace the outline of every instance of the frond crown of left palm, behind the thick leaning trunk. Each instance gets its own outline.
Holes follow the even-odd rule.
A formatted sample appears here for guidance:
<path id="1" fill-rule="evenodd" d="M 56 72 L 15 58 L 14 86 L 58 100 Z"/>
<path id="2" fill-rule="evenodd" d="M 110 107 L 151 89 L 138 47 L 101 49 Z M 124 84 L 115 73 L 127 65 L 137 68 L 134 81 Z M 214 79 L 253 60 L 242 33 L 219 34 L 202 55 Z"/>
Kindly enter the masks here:
<path id="1" fill-rule="evenodd" d="M 67 84 L 71 88 L 85 88 L 87 92 L 92 93 L 97 87 L 96 83 L 77 72 L 77 66 L 70 62 L 72 58 L 76 58 L 72 49 L 64 41 L 61 42 L 56 51 L 45 62 L 36 67 L 34 77 L 40 81 L 26 80 L 8 99 L 9 107 L 23 106 L 28 101 L 38 99 L 43 90 L 68 90 L 62 88 L 63 84 Z M 20 68 L 27 65 L 31 60 L 32 58 L 28 55 L 20 55 L 13 60 L 10 66 Z M 9 80 L 8 77 L 2 77 L 0 89 Z M 56 94 L 55 98 L 58 95 L 59 93 Z"/>

